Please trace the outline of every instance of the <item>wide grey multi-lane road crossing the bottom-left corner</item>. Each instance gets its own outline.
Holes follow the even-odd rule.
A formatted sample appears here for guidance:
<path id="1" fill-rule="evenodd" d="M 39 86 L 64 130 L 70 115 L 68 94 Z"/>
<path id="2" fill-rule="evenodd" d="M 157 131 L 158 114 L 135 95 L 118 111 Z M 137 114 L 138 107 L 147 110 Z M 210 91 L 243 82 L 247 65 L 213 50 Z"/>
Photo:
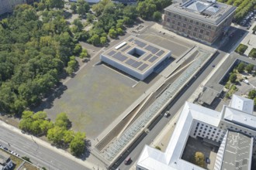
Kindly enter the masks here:
<path id="1" fill-rule="evenodd" d="M 1 127 L 0 134 L 1 145 L 18 153 L 20 156 L 29 157 L 31 162 L 40 167 L 45 167 L 48 170 L 88 169 L 55 151 L 51 151 L 49 148 L 45 148 L 34 141 L 30 141 L 19 134 L 13 133 L 13 131 L 7 128 Z"/>

